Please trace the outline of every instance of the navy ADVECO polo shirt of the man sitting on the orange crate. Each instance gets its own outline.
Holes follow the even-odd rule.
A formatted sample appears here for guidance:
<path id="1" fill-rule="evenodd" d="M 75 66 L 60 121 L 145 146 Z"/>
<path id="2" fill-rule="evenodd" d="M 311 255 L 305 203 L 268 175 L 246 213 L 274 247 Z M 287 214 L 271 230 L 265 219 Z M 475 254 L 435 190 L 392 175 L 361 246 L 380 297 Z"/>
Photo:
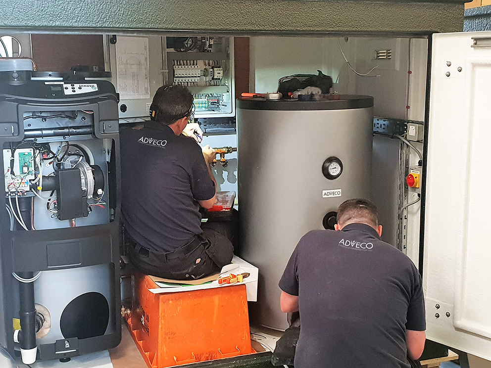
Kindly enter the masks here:
<path id="1" fill-rule="evenodd" d="M 121 127 L 121 217 L 140 245 L 170 252 L 202 233 L 197 201 L 215 195 L 201 148 L 168 126 Z"/>

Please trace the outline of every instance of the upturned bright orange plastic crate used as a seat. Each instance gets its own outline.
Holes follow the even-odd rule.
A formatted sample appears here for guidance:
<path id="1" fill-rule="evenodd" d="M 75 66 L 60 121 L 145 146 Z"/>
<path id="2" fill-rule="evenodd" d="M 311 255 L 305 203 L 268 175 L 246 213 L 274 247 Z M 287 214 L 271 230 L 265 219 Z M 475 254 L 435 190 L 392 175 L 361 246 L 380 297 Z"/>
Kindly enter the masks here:
<path id="1" fill-rule="evenodd" d="M 149 368 L 253 352 L 245 285 L 153 294 L 158 285 L 135 276 L 130 333 Z"/>

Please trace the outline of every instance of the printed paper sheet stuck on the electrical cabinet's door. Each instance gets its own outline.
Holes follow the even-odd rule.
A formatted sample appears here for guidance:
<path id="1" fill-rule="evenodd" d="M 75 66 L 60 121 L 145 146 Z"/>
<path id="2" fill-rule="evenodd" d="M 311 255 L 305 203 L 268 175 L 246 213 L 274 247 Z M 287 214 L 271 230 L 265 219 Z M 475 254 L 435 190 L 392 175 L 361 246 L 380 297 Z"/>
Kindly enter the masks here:
<path id="1" fill-rule="evenodd" d="M 120 98 L 150 98 L 148 39 L 118 37 L 116 42 L 117 89 Z"/>

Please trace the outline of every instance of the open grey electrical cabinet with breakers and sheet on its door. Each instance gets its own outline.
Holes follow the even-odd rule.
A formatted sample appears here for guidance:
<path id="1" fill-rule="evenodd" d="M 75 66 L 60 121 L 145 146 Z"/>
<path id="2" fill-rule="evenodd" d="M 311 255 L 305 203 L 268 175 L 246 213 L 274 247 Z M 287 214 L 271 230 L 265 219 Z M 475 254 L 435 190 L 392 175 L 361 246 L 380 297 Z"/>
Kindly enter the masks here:
<path id="1" fill-rule="evenodd" d="M 107 35 L 106 70 L 120 95 L 120 123 L 149 119 L 149 107 L 163 85 L 193 93 L 195 118 L 235 116 L 233 37 L 209 35 Z M 69 93 L 75 92 L 70 88 Z"/>

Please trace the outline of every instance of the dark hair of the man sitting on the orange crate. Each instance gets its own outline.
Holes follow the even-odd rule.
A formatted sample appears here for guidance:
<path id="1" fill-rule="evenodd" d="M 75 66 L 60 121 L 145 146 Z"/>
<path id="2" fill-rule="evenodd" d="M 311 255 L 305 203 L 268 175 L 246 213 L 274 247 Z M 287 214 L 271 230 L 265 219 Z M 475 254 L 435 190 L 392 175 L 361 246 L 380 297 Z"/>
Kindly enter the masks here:
<path id="1" fill-rule="evenodd" d="M 150 119 L 171 125 L 184 117 L 190 117 L 195 111 L 193 95 L 183 86 L 160 87 L 150 105 Z"/>

